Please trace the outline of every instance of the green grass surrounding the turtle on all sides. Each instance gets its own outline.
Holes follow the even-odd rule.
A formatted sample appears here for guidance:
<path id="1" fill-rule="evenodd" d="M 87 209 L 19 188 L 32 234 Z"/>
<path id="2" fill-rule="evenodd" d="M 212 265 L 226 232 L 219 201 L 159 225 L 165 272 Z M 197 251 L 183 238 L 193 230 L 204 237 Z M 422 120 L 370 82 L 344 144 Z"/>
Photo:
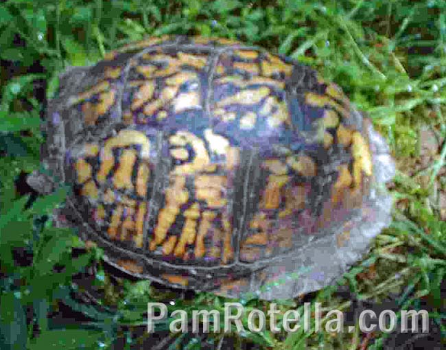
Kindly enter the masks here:
<path id="1" fill-rule="evenodd" d="M 81 344 L 110 349 L 117 338 L 126 340 L 124 349 L 130 349 L 130 342 L 148 336 L 131 336 L 145 325 L 148 301 L 174 299 L 169 310 L 223 310 L 224 299 L 213 294 L 181 299 L 147 281 L 113 279 L 100 264 L 95 285 L 103 298 L 98 304 L 81 303 L 71 294 L 78 288 L 71 276 L 99 261 L 101 252 L 93 249 L 71 259 L 71 251 L 83 243 L 47 220 L 64 191 L 39 198 L 30 207 L 30 198 L 14 190 L 14 179 L 40 164 L 43 136 L 38 125 L 44 105 L 33 86 L 46 82 L 51 97 L 66 67 L 91 65 L 110 49 L 161 34 L 237 38 L 286 54 L 340 84 L 371 116 L 397 159 L 395 220 L 339 284 L 370 303 L 394 293 L 400 310 L 429 301 L 430 317 L 438 324 L 443 318 L 445 336 L 441 281 L 446 272 L 446 224 L 441 215 L 446 213 L 438 198 L 446 196 L 446 143 L 441 141 L 437 152 L 426 155 L 420 151 L 425 140 L 419 136 L 427 126 L 440 140 L 446 137 L 445 1 L 8 0 L 0 4 L 1 349 L 78 349 Z M 28 263 L 19 265 L 23 259 L 18 255 L 29 257 Z M 321 302 L 324 310 L 348 310 L 351 297 L 335 291 L 326 288 L 312 302 Z M 255 299 L 241 302 L 268 308 Z M 90 321 L 58 323 L 48 318 L 61 303 Z M 281 301 L 280 307 L 285 312 L 303 306 L 296 299 Z M 167 322 L 157 329 L 166 327 Z M 274 349 L 380 349 L 386 341 L 379 333 L 366 340 L 358 329 L 340 335 L 266 330 L 232 336 L 236 348 L 248 341 Z M 200 342 L 217 345 L 221 338 L 187 335 L 178 341 L 185 349 L 200 349 Z"/>

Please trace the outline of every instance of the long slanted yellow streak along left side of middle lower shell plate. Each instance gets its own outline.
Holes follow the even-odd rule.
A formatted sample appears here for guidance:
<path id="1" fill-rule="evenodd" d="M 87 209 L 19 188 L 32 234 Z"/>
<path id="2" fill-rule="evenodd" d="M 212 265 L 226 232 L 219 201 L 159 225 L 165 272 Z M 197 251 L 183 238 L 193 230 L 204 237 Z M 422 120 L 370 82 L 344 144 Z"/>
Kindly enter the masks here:
<path id="1" fill-rule="evenodd" d="M 172 184 L 165 189 L 165 207 L 159 211 L 158 221 L 154 229 L 154 240 L 150 242 L 150 250 L 161 244 L 174 224 L 176 215 L 180 213 L 180 206 L 187 203 L 189 192 L 185 189 L 185 176 L 173 176 Z"/>

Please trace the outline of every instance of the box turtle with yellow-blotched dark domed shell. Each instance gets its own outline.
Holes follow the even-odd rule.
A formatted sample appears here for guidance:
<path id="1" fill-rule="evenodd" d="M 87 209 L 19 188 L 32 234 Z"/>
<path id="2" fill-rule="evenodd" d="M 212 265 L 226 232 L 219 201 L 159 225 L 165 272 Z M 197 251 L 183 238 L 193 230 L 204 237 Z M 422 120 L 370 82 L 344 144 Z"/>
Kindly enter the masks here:
<path id="1" fill-rule="evenodd" d="M 57 226 L 172 288 L 293 298 L 390 224 L 389 147 L 340 86 L 237 40 L 149 37 L 59 77 L 42 124 Z"/>

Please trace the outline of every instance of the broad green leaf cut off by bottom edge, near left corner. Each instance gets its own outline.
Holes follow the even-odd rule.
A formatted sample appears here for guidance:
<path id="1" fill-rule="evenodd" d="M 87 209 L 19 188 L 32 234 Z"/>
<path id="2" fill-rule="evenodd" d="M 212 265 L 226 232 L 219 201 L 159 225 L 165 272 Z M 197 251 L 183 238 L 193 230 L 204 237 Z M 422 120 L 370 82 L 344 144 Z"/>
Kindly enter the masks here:
<path id="1" fill-rule="evenodd" d="M 104 336 L 102 331 L 88 329 L 60 329 L 44 331 L 28 344 L 29 350 L 77 350 L 96 349 L 97 342 Z"/>

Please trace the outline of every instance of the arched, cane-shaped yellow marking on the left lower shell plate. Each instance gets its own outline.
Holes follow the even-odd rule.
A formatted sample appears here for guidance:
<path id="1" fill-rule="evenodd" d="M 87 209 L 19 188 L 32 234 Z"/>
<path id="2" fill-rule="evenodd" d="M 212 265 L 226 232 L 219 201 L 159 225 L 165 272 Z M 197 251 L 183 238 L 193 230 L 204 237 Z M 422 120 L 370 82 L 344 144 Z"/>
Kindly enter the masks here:
<path id="1" fill-rule="evenodd" d="M 128 145 L 141 145 L 141 153 L 139 154 L 141 158 L 150 158 L 150 141 L 142 132 L 137 130 L 121 130 L 115 137 L 108 139 L 102 149 L 100 156 L 102 163 L 99 172 L 97 172 L 97 180 L 99 183 L 105 182 L 106 176 L 115 164 L 113 148 L 124 148 Z"/>

